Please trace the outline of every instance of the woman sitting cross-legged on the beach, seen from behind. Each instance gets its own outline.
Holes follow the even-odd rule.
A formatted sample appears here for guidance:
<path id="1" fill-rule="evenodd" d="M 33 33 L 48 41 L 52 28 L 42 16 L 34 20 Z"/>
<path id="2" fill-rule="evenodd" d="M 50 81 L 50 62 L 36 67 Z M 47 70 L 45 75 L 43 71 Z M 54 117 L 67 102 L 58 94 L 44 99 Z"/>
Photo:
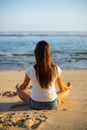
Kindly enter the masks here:
<path id="1" fill-rule="evenodd" d="M 69 94 L 71 85 L 64 85 L 61 69 L 52 61 L 51 48 L 46 41 L 37 43 L 35 51 L 36 64 L 27 68 L 24 82 L 17 84 L 18 96 L 32 109 L 43 110 L 57 108 Z M 32 92 L 26 88 L 32 81 Z M 55 86 L 59 86 L 56 93 Z"/>

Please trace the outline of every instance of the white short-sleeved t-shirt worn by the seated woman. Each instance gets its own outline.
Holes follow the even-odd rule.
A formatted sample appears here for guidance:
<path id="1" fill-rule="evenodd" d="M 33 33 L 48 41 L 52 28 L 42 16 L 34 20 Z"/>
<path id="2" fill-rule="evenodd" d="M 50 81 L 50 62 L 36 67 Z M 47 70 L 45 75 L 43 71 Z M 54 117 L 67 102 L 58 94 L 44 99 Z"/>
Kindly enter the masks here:
<path id="1" fill-rule="evenodd" d="M 61 69 L 57 66 L 58 77 L 61 75 Z M 26 70 L 27 76 L 31 79 L 32 82 L 32 92 L 30 97 L 39 102 L 53 101 L 57 98 L 55 81 L 52 82 L 52 86 L 48 89 L 41 88 L 37 78 L 34 66 L 28 67 Z"/>

